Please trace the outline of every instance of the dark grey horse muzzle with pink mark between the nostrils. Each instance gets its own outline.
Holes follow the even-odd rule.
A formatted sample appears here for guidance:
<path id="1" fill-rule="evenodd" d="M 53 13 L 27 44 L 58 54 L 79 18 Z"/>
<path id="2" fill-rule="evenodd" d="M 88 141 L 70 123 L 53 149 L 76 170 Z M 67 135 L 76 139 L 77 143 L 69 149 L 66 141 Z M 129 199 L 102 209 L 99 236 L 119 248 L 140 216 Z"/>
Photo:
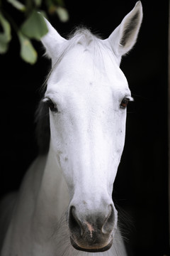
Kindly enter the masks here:
<path id="1" fill-rule="evenodd" d="M 72 246 L 84 252 L 104 252 L 113 243 L 117 225 L 117 215 L 113 206 L 108 206 L 108 215 L 89 214 L 84 217 L 77 214 L 75 206 L 69 210 L 69 230 Z"/>

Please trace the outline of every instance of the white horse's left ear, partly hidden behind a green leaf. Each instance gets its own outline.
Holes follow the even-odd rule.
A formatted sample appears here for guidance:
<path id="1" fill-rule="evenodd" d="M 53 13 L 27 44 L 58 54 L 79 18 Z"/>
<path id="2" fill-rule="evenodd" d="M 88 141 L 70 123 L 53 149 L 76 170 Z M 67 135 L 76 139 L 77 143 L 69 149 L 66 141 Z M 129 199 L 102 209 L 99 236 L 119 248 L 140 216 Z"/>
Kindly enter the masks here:
<path id="1" fill-rule="evenodd" d="M 57 53 L 60 51 L 62 43 L 67 41 L 65 38 L 62 38 L 60 34 L 53 28 L 49 21 L 46 18 L 45 23 L 48 28 L 48 32 L 45 36 L 41 38 L 43 46 L 45 46 L 46 55 L 48 58 L 52 59 L 52 62 L 57 58 Z"/>

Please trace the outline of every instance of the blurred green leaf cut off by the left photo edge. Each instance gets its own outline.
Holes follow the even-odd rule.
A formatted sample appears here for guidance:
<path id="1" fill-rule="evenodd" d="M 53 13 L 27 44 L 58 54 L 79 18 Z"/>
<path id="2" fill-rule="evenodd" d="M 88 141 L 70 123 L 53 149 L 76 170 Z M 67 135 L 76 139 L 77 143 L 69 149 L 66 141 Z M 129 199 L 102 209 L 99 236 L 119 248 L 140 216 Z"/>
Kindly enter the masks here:
<path id="1" fill-rule="evenodd" d="M 0 33 L 0 53 L 6 53 L 8 50 L 8 42 L 11 41 L 11 26 L 1 12 L 0 23 L 4 31 Z"/>

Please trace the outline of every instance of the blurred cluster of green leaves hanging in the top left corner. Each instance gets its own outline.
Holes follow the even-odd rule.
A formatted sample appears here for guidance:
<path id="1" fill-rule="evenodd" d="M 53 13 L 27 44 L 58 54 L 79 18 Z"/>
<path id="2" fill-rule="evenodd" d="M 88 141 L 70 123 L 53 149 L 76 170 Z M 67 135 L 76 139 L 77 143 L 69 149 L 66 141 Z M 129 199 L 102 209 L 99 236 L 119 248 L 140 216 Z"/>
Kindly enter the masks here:
<path id="1" fill-rule="evenodd" d="M 60 21 L 69 19 L 67 9 L 64 8 L 64 0 L 25 0 L 24 4 L 18 0 L 0 0 L 0 53 L 6 53 L 11 41 L 11 28 L 16 32 L 21 45 L 21 58 L 27 63 L 34 64 L 37 60 L 37 52 L 33 47 L 33 40 L 40 41 L 47 33 L 47 26 L 42 16 L 57 14 Z M 23 15 L 21 24 L 16 24 L 15 19 L 8 13 L 8 5 Z"/>

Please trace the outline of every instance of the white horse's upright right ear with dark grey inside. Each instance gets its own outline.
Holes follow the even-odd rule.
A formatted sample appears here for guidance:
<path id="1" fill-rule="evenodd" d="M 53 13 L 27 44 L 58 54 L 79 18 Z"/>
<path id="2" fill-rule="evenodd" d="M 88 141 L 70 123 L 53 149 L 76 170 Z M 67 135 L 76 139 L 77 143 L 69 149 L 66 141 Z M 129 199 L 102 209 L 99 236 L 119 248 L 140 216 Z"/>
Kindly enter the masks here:
<path id="1" fill-rule="evenodd" d="M 137 1 L 134 9 L 123 18 L 120 25 L 115 28 L 107 39 L 118 59 L 135 45 L 140 25 L 142 23 L 142 4 Z"/>

